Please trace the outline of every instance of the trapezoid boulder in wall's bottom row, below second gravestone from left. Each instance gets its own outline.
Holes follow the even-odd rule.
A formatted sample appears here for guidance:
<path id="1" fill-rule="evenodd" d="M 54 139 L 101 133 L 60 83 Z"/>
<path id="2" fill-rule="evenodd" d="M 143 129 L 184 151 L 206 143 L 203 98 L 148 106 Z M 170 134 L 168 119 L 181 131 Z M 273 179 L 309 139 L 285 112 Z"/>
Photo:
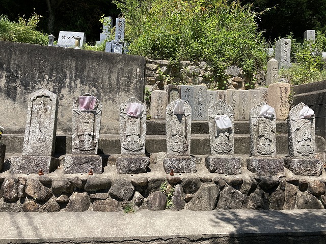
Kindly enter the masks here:
<path id="1" fill-rule="evenodd" d="M 87 192 L 79 193 L 74 192 L 66 206 L 66 211 L 68 212 L 84 212 L 88 210 L 91 205 L 91 199 Z"/>

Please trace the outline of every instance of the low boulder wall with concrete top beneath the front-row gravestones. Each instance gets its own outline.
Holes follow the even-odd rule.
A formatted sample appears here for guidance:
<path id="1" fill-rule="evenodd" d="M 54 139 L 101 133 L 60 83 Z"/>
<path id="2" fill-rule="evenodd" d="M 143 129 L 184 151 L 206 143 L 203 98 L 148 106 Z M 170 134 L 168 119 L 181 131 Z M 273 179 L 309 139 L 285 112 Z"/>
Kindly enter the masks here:
<path id="1" fill-rule="evenodd" d="M 155 156 L 155 157 L 154 157 Z M 150 172 L 119 175 L 109 158 L 102 174 L 0 174 L 0 211 L 135 211 L 183 208 L 323 209 L 326 206 L 323 170 L 320 176 L 297 176 L 286 169 L 277 176 L 258 176 L 242 167 L 239 175 L 209 173 L 198 158 L 197 173 L 170 176 L 161 157 L 152 155 Z"/>

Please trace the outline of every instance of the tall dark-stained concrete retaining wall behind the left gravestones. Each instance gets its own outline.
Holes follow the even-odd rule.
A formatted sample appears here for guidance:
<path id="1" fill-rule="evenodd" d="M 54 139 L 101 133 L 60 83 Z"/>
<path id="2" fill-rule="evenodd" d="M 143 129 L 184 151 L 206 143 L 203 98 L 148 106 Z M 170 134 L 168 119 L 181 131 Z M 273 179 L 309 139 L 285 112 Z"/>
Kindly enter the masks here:
<path id="1" fill-rule="evenodd" d="M 71 134 L 72 102 L 91 93 L 103 104 L 101 134 L 119 133 L 119 106 L 143 100 L 145 58 L 72 48 L 0 41 L 0 124 L 23 134 L 29 94 L 58 95 L 57 134 Z"/>

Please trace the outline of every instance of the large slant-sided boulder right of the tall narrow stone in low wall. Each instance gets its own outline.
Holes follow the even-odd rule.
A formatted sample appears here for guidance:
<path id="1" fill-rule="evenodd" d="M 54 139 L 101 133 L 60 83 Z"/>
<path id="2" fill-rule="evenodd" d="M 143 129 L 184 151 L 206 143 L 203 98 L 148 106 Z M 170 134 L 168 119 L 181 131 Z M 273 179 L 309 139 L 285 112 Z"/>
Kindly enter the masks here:
<path id="1" fill-rule="evenodd" d="M 186 204 L 186 208 L 195 211 L 213 210 L 216 208 L 219 195 L 220 189 L 217 185 L 202 184 L 193 195 L 193 199 Z"/>

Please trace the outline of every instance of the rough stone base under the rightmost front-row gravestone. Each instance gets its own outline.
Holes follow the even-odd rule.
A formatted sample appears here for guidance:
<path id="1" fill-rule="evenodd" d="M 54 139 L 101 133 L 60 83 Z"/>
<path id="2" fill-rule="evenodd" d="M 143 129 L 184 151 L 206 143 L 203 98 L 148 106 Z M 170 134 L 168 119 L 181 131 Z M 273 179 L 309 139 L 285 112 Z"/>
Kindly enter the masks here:
<path id="1" fill-rule="evenodd" d="M 324 161 L 320 159 L 284 159 L 284 166 L 297 175 L 319 176 L 321 175 L 323 164 Z"/>

